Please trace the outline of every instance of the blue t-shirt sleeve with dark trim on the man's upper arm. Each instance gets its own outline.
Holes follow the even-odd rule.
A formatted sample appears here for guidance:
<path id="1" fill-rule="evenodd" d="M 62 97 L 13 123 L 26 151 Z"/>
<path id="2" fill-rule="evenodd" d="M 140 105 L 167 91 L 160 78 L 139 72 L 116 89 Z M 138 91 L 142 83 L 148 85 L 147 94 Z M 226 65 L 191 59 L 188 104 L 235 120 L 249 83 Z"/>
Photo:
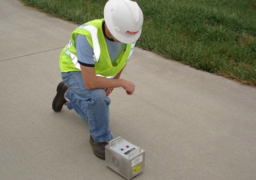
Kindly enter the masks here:
<path id="1" fill-rule="evenodd" d="M 93 49 L 84 35 L 75 36 L 75 49 L 79 64 L 94 67 Z"/>

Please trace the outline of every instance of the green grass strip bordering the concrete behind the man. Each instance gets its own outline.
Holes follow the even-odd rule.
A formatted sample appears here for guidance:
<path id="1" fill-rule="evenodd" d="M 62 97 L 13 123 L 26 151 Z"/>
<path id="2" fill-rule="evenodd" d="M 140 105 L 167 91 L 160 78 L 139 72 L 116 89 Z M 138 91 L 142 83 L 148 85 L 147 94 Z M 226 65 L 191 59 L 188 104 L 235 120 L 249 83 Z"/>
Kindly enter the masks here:
<path id="1" fill-rule="evenodd" d="M 23 0 L 77 24 L 102 18 L 107 0 Z M 144 14 L 137 45 L 256 86 L 256 0 L 135 0 Z"/>

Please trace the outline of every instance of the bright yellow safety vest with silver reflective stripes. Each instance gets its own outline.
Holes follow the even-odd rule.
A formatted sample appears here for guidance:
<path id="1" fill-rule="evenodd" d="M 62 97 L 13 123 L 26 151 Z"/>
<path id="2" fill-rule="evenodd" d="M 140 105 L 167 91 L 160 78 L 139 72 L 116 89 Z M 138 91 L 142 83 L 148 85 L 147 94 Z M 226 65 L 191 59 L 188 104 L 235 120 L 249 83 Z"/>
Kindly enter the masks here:
<path id="1" fill-rule="evenodd" d="M 134 49 L 135 43 L 127 44 L 126 49 L 121 52 L 116 63 L 112 65 L 102 32 L 103 20 L 104 19 L 92 20 L 73 30 L 70 41 L 60 54 L 59 67 L 61 72 L 80 71 L 80 64 L 78 63 L 74 46 L 76 34 L 84 35 L 93 49 L 96 76 L 113 78 L 125 66 Z"/>

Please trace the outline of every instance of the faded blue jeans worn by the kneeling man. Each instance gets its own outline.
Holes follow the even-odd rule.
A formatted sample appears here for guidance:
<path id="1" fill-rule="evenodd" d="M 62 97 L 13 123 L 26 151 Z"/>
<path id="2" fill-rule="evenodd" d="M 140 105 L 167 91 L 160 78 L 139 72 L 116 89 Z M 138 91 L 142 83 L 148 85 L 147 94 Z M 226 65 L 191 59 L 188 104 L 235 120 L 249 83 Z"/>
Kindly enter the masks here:
<path id="1" fill-rule="evenodd" d="M 106 142 L 113 139 L 109 130 L 110 99 L 104 89 L 86 89 L 80 71 L 61 72 L 61 78 L 68 89 L 65 97 L 68 109 L 87 120 L 89 132 L 94 141 Z"/>

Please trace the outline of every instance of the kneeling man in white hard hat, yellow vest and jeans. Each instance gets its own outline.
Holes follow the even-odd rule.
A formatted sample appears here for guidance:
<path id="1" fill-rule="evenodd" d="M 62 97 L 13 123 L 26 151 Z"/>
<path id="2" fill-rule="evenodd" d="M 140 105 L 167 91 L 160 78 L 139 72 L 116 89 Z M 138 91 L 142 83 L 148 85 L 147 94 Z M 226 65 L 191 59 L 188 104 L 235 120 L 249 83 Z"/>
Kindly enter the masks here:
<path id="1" fill-rule="evenodd" d="M 104 19 L 77 27 L 60 54 L 63 82 L 57 86 L 52 109 L 65 104 L 88 122 L 92 151 L 105 159 L 105 145 L 113 139 L 109 129 L 109 94 L 122 87 L 128 95 L 134 84 L 119 79 L 141 34 L 143 14 L 131 0 L 108 0 Z"/>

